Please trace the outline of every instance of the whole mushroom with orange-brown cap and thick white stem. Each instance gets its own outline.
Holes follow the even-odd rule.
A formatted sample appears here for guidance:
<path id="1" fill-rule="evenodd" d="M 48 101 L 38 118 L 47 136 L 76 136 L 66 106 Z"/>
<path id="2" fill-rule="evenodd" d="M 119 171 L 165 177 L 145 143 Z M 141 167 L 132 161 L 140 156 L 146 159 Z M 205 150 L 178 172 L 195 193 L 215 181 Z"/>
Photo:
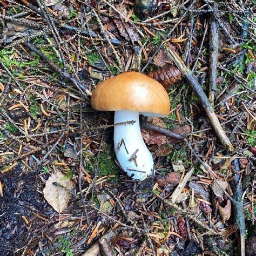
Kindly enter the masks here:
<path id="1" fill-rule="evenodd" d="M 154 162 L 140 133 L 139 113 L 148 117 L 169 114 L 170 99 L 164 87 L 142 73 L 124 72 L 97 85 L 91 106 L 115 111 L 114 151 L 127 175 L 136 180 L 153 175 Z"/>

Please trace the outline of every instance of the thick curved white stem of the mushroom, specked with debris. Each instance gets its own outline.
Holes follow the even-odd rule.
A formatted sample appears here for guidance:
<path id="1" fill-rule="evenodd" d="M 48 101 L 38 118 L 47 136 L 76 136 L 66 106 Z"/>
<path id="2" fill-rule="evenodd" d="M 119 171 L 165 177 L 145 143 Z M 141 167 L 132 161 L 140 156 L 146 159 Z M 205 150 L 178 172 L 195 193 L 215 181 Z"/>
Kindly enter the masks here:
<path id="1" fill-rule="evenodd" d="M 120 166 L 128 176 L 144 180 L 154 173 L 154 162 L 140 133 L 139 112 L 114 112 L 114 124 L 130 121 L 134 121 L 134 124 L 114 126 L 114 151 Z"/>

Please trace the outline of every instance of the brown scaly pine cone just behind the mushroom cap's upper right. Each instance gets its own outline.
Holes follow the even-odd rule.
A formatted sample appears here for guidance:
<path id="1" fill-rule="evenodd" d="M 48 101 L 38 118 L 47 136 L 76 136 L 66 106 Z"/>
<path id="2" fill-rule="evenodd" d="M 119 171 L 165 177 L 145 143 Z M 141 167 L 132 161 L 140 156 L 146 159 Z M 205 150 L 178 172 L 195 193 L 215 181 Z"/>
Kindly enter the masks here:
<path id="1" fill-rule="evenodd" d="M 181 73 L 177 68 L 167 66 L 163 69 L 153 70 L 147 73 L 147 76 L 157 80 L 165 89 L 181 79 Z"/>

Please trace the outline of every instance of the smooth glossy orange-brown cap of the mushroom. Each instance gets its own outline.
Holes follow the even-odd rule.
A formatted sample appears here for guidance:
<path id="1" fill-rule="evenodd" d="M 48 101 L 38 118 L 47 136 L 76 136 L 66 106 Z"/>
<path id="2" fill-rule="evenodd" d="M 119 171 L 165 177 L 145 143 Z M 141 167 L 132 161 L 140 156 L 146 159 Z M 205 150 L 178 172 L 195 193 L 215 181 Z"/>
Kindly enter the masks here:
<path id="1" fill-rule="evenodd" d="M 167 116 L 170 99 L 156 80 L 130 71 L 99 83 L 92 92 L 91 106 L 100 111 L 132 110 L 146 116 Z"/>

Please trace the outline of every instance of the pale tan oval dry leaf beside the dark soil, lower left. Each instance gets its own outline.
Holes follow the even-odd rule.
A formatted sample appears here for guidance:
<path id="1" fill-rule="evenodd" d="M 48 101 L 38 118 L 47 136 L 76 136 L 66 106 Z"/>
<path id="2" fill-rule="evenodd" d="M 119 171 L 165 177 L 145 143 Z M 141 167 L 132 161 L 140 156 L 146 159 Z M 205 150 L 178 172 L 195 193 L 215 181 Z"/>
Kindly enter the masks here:
<path id="1" fill-rule="evenodd" d="M 55 172 L 45 183 L 44 198 L 55 211 L 60 213 L 68 205 L 72 188 L 73 183 L 70 179 L 65 179 L 61 172 Z"/>

